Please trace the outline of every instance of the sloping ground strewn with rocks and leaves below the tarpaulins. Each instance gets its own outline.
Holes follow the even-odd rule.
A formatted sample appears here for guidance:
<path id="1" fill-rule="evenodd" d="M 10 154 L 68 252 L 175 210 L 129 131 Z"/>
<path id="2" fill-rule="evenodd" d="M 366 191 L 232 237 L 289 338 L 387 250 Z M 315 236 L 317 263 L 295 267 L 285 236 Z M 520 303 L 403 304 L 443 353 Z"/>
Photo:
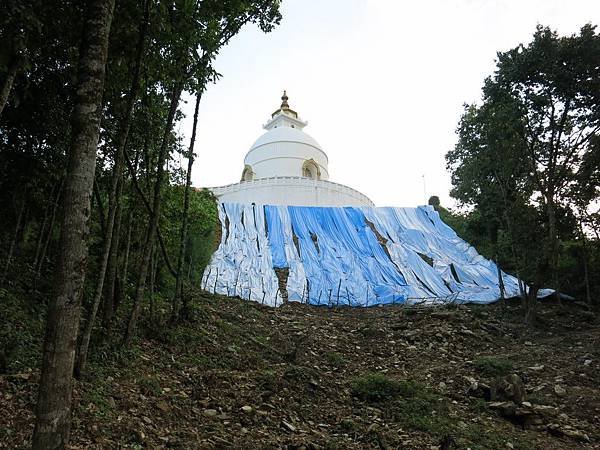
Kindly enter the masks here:
<path id="1" fill-rule="evenodd" d="M 582 306 L 544 302 L 534 329 L 512 303 L 196 307 L 96 349 L 71 448 L 600 448 L 600 328 Z M 28 447 L 37 379 L 0 375 L 0 448 Z"/>

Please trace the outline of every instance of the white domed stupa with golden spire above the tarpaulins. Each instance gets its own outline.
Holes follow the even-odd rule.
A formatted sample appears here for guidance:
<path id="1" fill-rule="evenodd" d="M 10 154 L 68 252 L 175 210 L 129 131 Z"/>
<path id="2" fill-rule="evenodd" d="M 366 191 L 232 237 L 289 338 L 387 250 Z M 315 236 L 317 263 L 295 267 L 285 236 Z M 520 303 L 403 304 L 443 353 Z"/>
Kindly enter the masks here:
<path id="1" fill-rule="evenodd" d="M 329 160 L 306 134 L 304 122 L 288 104 L 264 125 L 267 130 L 250 147 L 239 183 L 213 187 L 219 202 L 295 206 L 374 206 L 364 194 L 329 181 Z"/>

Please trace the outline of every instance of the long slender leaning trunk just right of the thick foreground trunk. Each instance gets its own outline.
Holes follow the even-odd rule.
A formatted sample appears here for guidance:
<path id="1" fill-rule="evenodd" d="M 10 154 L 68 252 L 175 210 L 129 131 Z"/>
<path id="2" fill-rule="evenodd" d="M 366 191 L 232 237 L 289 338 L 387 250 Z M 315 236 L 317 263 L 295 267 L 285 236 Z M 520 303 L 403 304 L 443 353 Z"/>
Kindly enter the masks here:
<path id="1" fill-rule="evenodd" d="M 140 69 L 142 66 L 142 57 L 144 54 L 144 42 L 146 39 L 146 30 L 148 24 L 148 0 L 144 5 L 144 17 L 140 24 L 140 34 L 136 49 L 135 68 L 133 71 L 133 78 L 131 80 L 131 87 L 129 89 L 129 95 L 127 98 L 127 106 L 125 108 L 125 117 L 117 139 L 117 148 L 115 152 L 115 164 L 113 168 L 109 200 L 108 200 L 108 217 L 106 221 L 106 234 L 104 237 L 104 247 L 102 249 L 102 257 L 100 260 L 100 267 L 98 270 L 98 280 L 96 281 L 96 290 L 94 292 L 94 299 L 90 309 L 90 314 L 86 322 L 83 336 L 81 338 L 81 344 L 79 346 L 79 353 L 77 358 L 77 364 L 75 366 L 75 375 L 80 378 L 85 370 L 85 364 L 87 361 L 88 347 L 90 345 L 90 338 L 92 330 L 94 329 L 94 322 L 96 321 L 96 314 L 98 313 L 98 307 L 100 306 L 100 300 L 102 299 L 102 290 L 104 288 L 104 279 L 106 277 L 106 268 L 108 267 L 108 258 L 110 255 L 110 249 L 112 247 L 113 230 L 115 226 L 115 216 L 117 212 L 117 193 L 119 191 L 119 184 L 121 177 L 123 176 L 123 152 L 125 151 L 125 145 L 129 138 L 129 130 L 131 128 L 131 117 L 133 115 L 133 105 L 137 98 L 139 85 L 140 85 Z"/>

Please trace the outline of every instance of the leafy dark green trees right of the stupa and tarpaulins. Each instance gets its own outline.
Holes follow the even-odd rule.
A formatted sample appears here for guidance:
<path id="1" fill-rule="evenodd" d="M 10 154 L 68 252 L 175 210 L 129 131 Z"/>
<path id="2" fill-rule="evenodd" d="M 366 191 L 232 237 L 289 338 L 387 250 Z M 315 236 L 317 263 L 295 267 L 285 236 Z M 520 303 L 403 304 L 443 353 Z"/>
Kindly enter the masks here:
<path id="1" fill-rule="evenodd" d="M 498 54 L 446 155 L 451 195 L 468 212 L 442 215 L 532 286 L 530 298 L 540 287 L 600 295 L 598 61 L 595 27 L 559 37 L 539 26 L 531 43 Z"/>

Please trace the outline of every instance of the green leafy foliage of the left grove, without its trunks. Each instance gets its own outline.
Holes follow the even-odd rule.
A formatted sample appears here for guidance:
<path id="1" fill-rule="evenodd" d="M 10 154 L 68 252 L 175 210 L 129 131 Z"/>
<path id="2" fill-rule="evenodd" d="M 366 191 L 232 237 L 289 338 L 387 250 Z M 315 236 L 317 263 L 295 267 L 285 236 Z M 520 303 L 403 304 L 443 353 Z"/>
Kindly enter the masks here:
<path id="1" fill-rule="evenodd" d="M 184 95 L 205 92 L 220 76 L 213 67 L 220 50 L 247 24 L 265 32 L 272 30 L 281 20 L 279 7 L 279 0 L 116 2 L 91 202 L 84 319 L 102 266 L 115 174 L 119 185 L 113 240 L 118 240 L 118 245 L 109 258 L 102 302 L 114 303 L 117 311 L 115 316 L 106 314 L 103 325 L 110 325 L 107 329 L 113 333 L 120 331 L 111 320 L 122 320 L 125 306 L 131 311 L 136 284 L 145 288 L 143 300 L 153 298 L 152 308 L 141 309 L 152 311 L 148 323 L 161 323 L 156 316 L 169 313 L 174 303 L 173 269 L 178 268 L 183 240 L 187 159 L 195 156 L 189 154 L 188 143 L 179 132 L 178 124 L 184 118 L 179 101 L 174 104 L 174 124 L 167 126 L 171 100 L 177 100 L 179 91 Z M 53 262 L 59 251 L 60 205 L 84 9 L 84 2 L 72 0 L 8 0 L 0 6 L 0 82 L 13 63 L 18 63 L 0 115 L 0 208 L 5 212 L 0 224 L 0 288 L 14 294 L 16 286 L 28 286 L 31 295 L 21 298 L 19 292 L 19 301 L 27 309 L 24 298 L 41 299 L 40 316 L 52 295 Z M 122 137 L 126 137 L 126 170 L 116 164 Z M 161 152 L 163 141 L 166 152 Z M 195 149 L 203 151 L 206 149 Z M 159 161 L 161 153 L 166 153 L 165 161 Z M 167 175 L 157 186 L 159 168 Z M 158 235 L 164 241 L 164 254 L 159 243 L 147 239 L 156 210 L 154 198 L 160 211 Z M 192 188 L 189 200 L 183 288 L 177 297 L 184 301 L 191 297 L 193 286 L 199 285 L 217 244 L 218 228 L 212 194 Z M 147 260 L 145 254 L 152 255 L 153 267 L 149 276 L 140 280 L 138 269 L 141 261 Z M 185 306 L 186 313 L 193 309 Z M 108 338 L 120 341 L 117 336 Z M 0 345 L 14 347 L 9 341 L 20 346 L 32 343 L 33 338 L 11 325 L 0 331 Z M 10 358 L 8 350 L 0 350 L 7 353 L 9 364 L 16 364 L 9 368 L 15 370 L 20 363 Z"/>

